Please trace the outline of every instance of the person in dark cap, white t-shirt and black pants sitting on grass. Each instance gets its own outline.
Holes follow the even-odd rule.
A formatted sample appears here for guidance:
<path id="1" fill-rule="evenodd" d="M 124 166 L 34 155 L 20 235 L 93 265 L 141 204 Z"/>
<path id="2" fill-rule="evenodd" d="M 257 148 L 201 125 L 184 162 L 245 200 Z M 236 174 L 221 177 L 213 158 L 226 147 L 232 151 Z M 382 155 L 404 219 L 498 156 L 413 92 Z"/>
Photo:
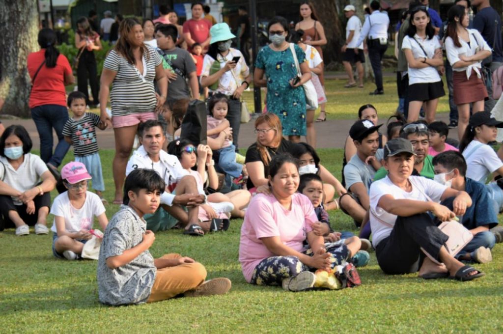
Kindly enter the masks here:
<path id="1" fill-rule="evenodd" d="M 440 221 L 462 215 L 472 204 L 470 196 L 433 180 L 411 176 L 414 156 L 410 141 L 388 141 L 384 146 L 388 175 L 370 186 L 370 225 L 379 267 L 391 275 L 419 271 L 424 279 L 449 276 L 469 281 L 483 276 L 449 254 L 444 246 L 449 236 L 428 214 L 431 211 Z M 453 211 L 438 203 L 449 197 L 455 197 Z M 422 250 L 441 264 L 425 257 Z"/>

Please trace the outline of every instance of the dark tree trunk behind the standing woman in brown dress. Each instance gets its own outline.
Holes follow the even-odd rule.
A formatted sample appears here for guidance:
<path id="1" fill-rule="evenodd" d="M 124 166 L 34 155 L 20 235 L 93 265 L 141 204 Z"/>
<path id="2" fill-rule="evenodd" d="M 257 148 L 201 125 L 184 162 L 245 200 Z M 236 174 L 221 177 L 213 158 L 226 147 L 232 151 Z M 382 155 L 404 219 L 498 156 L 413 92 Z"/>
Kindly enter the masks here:
<path id="1" fill-rule="evenodd" d="M 325 30 L 326 45 L 323 48 L 323 62 L 329 64 L 341 58 L 341 46 L 344 34 L 341 21 L 333 0 L 317 0 L 312 2 L 319 21 Z"/>

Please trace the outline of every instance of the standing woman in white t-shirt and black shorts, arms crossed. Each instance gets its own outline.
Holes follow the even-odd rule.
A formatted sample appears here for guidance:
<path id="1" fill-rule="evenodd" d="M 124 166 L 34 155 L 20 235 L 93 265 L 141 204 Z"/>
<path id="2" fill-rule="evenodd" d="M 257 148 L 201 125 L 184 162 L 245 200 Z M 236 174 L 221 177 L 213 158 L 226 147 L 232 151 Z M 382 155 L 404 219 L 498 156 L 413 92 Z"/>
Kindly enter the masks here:
<path id="1" fill-rule="evenodd" d="M 444 65 L 442 47 L 435 36 L 428 10 L 424 6 L 412 9 L 402 50 L 408 63 L 409 107 L 407 123 L 418 120 L 424 106 L 426 121 L 435 121 L 439 98 L 445 95 L 437 67 Z"/>

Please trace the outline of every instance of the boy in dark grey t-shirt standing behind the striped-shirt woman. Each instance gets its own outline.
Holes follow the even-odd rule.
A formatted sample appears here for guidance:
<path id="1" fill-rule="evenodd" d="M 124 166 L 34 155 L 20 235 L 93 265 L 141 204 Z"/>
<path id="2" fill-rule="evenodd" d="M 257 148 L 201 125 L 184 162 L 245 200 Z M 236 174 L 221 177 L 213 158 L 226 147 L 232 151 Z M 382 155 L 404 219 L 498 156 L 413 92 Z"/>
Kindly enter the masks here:
<path id="1" fill-rule="evenodd" d="M 199 99 L 199 82 L 196 64 L 189 52 L 175 46 L 177 36 L 178 29 L 174 25 L 158 25 L 155 28 L 157 52 L 162 58 L 162 66 L 166 71 L 170 86 L 167 90 L 167 99 L 190 99 L 189 84 L 192 99 L 197 100 Z"/>

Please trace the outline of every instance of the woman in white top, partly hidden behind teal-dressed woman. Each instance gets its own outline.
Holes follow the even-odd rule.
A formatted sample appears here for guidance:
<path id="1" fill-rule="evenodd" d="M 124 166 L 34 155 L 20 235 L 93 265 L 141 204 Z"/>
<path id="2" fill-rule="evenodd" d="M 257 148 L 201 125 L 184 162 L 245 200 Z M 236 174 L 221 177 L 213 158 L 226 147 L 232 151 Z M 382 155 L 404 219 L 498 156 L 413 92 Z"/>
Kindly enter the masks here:
<path id="1" fill-rule="evenodd" d="M 305 44 L 302 40 L 304 31 L 296 30 L 290 35 L 290 42 L 297 44 L 306 53 L 307 64 L 311 70 L 311 82 L 314 85 L 316 94 L 318 95 L 318 104 L 326 103 L 326 95 L 323 90 L 323 85 L 318 77 L 323 73 L 323 59 L 319 52 L 311 45 Z M 316 129 L 314 128 L 314 113 L 316 109 L 312 109 L 307 105 L 306 110 L 306 142 L 316 148 Z"/>

